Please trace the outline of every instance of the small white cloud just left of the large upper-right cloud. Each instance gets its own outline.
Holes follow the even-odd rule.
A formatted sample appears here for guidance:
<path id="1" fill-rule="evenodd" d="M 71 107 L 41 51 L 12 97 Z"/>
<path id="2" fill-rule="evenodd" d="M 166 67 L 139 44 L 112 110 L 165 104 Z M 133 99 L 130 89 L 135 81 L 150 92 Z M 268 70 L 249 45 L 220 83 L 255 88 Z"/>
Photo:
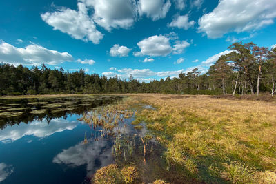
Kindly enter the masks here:
<path id="1" fill-rule="evenodd" d="M 188 30 L 188 28 L 193 28 L 194 25 L 195 21 L 189 21 L 188 14 L 182 16 L 177 14 L 172 22 L 168 24 L 168 26 L 170 27 L 177 27 L 184 30 Z"/>

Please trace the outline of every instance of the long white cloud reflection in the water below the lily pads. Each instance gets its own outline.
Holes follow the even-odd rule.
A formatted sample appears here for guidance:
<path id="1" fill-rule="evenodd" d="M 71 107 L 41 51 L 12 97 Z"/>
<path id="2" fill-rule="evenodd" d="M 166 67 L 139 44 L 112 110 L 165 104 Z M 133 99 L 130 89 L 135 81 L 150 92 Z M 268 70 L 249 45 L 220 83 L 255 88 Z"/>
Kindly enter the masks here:
<path id="1" fill-rule="evenodd" d="M 19 126 L 8 126 L 4 130 L 1 130 L 0 141 L 13 142 L 27 135 L 43 138 L 56 132 L 73 130 L 77 124 L 77 122 L 69 122 L 64 119 L 52 119 L 50 123 L 46 119 L 43 119 L 41 122 L 33 121 L 28 123 L 28 125 L 21 123 Z"/>

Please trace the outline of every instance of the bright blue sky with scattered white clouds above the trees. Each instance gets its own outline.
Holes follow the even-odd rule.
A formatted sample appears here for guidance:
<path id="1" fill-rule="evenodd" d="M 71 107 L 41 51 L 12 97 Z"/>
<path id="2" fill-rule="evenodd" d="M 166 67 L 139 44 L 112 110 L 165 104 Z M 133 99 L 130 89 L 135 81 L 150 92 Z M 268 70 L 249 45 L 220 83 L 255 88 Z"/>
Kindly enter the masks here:
<path id="1" fill-rule="evenodd" d="M 208 71 L 234 42 L 276 44 L 275 0 L 0 2 L 0 62 L 139 81 Z"/>

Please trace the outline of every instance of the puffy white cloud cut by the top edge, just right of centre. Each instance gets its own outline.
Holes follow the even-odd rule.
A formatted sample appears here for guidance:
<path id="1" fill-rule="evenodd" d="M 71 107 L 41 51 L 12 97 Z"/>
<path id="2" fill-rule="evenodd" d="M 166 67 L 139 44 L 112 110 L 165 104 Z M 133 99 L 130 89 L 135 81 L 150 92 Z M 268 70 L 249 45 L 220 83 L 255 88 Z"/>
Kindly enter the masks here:
<path id="1" fill-rule="evenodd" d="M 170 0 L 140 0 L 138 2 L 139 14 L 146 14 L 153 21 L 166 17 L 170 9 Z"/>

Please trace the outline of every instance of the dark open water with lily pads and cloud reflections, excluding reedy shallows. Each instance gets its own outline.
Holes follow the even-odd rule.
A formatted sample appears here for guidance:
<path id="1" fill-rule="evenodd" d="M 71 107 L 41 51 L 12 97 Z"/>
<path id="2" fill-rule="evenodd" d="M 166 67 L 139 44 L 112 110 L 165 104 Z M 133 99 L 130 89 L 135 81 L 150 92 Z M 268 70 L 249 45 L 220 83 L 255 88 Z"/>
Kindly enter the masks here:
<path id="1" fill-rule="evenodd" d="M 87 183 L 97 169 L 112 163 L 112 140 L 95 141 L 99 131 L 77 119 L 119 99 L 0 101 L 0 183 Z M 43 113 L 34 111 L 41 109 Z"/>

